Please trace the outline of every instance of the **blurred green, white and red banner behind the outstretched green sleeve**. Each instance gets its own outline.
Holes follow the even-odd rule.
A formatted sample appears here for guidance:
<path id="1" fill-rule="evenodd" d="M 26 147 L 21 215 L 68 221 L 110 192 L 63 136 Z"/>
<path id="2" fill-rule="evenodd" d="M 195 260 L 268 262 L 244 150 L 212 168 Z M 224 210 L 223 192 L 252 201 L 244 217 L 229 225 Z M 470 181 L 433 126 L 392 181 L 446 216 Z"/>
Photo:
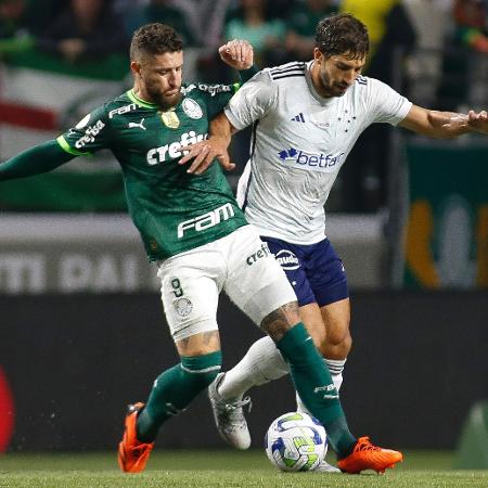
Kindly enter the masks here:
<path id="1" fill-rule="evenodd" d="M 75 126 L 87 113 L 126 88 L 127 60 L 67 63 L 31 49 L 0 66 L 2 158 Z M 112 155 L 101 152 L 56 171 L 2 184 L 4 210 L 124 211 L 121 176 Z"/>

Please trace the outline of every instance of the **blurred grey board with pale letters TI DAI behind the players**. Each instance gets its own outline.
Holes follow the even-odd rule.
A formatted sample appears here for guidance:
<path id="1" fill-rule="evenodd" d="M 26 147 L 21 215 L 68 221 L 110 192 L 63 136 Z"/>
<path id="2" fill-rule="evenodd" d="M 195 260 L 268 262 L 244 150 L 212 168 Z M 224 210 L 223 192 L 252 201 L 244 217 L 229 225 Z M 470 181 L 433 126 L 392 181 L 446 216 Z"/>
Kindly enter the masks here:
<path id="1" fill-rule="evenodd" d="M 26 193 L 28 179 L 17 183 Z M 329 224 L 349 285 L 382 286 L 382 218 L 332 215 Z M 127 215 L 0 214 L 0 295 L 149 292 L 157 281 Z"/>

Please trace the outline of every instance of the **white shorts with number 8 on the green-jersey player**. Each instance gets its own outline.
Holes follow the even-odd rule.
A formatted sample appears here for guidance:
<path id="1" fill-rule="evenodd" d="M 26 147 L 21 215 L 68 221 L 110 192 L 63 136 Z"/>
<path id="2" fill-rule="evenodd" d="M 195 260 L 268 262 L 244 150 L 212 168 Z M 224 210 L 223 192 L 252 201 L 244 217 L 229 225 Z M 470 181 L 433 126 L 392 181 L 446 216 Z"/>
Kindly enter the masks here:
<path id="1" fill-rule="evenodd" d="M 218 329 L 222 290 L 257 325 L 282 305 L 296 300 L 281 266 L 251 226 L 166 259 L 157 277 L 175 341 Z"/>

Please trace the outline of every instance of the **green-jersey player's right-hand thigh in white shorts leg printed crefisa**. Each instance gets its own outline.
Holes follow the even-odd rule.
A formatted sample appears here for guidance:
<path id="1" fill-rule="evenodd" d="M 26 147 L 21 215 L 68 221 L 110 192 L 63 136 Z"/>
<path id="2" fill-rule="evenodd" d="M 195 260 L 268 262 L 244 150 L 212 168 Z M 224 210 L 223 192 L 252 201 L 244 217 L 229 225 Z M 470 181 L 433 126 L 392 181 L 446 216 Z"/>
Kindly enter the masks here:
<path id="1" fill-rule="evenodd" d="M 230 299 L 257 325 L 285 304 L 296 303 L 296 295 L 280 265 L 256 231 L 246 226 L 234 232 L 229 249 L 229 275 L 224 291 Z M 290 310 L 285 321 L 294 325 L 298 313 Z"/>

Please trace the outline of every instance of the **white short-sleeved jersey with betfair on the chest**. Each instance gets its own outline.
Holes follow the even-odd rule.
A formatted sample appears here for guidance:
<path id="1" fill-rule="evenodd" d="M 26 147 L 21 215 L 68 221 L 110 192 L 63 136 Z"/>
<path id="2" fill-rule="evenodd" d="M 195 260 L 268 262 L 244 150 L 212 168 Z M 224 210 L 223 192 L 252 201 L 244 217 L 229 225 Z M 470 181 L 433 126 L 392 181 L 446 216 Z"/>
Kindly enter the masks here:
<path id="1" fill-rule="evenodd" d="M 325 236 L 324 204 L 360 133 L 372 123 L 401 121 L 411 102 L 359 76 L 343 97 L 324 99 L 308 63 L 267 68 L 224 108 L 236 129 L 254 124 L 251 159 L 237 202 L 261 235 L 295 244 Z"/>

